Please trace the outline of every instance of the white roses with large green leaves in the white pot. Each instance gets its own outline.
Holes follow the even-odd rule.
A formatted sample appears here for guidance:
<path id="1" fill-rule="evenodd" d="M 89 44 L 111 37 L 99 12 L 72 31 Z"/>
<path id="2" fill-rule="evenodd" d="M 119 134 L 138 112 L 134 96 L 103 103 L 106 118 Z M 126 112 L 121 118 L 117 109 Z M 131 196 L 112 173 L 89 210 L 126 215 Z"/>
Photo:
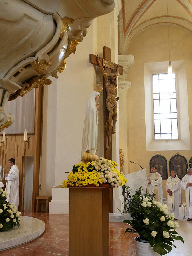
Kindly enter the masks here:
<path id="1" fill-rule="evenodd" d="M 142 196 L 140 187 L 135 195 L 130 196 L 129 187 L 126 188 L 127 203 L 124 203 L 125 213 L 130 213 L 133 220 L 124 220 L 123 222 L 131 225 L 126 232 L 139 233 L 143 240 L 148 240 L 155 252 L 165 255 L 172 250 L 174 239 L 183 238 L 175 231 L 179 224 L 174 219 L 174 213 L 170 216 L 167 204 L 160 204 L 154 200 L 154 194 L 144 194 Z"/>

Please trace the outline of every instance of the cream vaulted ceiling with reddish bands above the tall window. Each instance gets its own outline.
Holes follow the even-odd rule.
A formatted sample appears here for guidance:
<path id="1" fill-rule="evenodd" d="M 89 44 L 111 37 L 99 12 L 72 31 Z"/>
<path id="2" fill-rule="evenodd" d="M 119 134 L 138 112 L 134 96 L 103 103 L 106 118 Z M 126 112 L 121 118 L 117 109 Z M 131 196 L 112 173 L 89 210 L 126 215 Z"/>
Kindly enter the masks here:
<path id="1" fill-rule="evenodd" d="M 132 38 L 150 26 L 169 24 L 192 32 L 192 0 L 121 0 L 119 16 L 120 53 Z"/>

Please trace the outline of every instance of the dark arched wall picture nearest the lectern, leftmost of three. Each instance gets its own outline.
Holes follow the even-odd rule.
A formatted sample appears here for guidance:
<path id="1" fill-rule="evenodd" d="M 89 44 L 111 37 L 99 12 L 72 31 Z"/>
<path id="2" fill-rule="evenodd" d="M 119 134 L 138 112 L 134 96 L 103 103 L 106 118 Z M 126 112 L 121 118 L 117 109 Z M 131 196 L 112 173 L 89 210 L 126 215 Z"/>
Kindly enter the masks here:
<path id="1" fill-rule="evenodd" d="M 149 169 L 151 173 L 151 167 L 156 166 L 157 172 L 161 175 L 163 180 L 167 179 L 167 160 L 164 156 L 157 154 L 153 156 L 149 162 Z"/>

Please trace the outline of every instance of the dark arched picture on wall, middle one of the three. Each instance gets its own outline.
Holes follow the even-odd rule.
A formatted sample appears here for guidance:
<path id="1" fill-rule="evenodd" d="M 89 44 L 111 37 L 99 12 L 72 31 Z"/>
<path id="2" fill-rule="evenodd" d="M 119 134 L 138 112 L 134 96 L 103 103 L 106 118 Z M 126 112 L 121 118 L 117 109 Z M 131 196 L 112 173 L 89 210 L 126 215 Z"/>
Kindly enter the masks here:
<path id="1" fill-rule="evenodd" d="M 177 173 L 179 179 L 187 174 L 187 159 L 179 154 L 172 156 L 169 161 L 169 173 L 173 170 Z"/>

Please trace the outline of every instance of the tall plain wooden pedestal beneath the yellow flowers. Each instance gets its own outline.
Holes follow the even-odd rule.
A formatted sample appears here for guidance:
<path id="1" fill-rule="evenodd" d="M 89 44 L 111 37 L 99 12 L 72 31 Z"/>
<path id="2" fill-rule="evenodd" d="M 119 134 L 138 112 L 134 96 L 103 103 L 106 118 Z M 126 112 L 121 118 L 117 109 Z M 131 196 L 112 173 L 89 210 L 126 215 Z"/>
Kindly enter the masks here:
<path id="1" fill-rule="evenodd" d="M 109 189 L 69 188 L 69 256 L 109 256 Z"/>

